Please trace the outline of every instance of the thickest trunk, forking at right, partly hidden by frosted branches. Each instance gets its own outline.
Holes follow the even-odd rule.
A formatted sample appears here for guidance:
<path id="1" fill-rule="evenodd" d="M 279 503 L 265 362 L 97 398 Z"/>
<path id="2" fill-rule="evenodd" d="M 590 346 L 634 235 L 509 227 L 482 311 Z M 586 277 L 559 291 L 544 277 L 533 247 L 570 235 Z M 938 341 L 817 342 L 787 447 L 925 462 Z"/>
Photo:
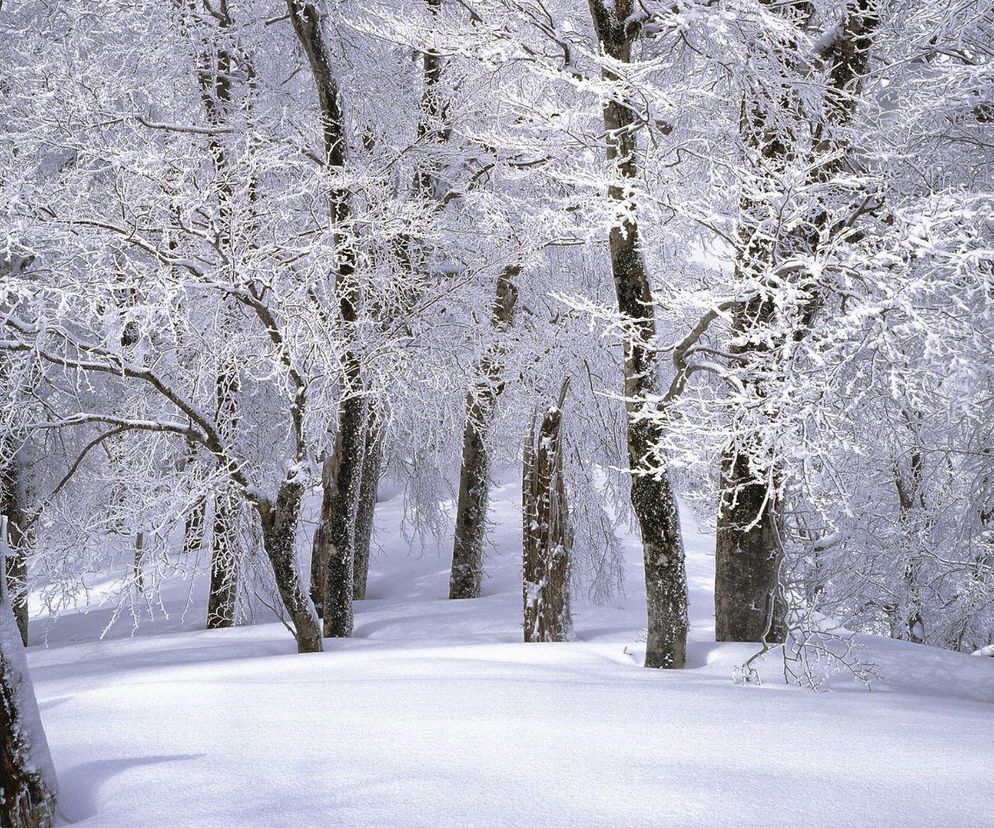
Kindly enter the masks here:
<path id="1" fill-rule="evenodd" d="M 777 9 L 798 21 L 806 20 L 809 11 L 804 2 L 781 4 Z M 814 126 L 812 134 L 817 160 L 809 166 L 808 185 L 824 184 L 842 170 L 847 147 L 834 135 L 833 128 L 844 125 L 853 115 L 856 95 L 868 66 L 872 35 L 879 22 L 876 0 L 850 0 L 836 36 L 825 44 L 819 56 L 828 67 L 828 84 L 824 119 Z M 759 198 L 743 196 L 739 208 L 736 273 L 741 280 L 763 286 L 733 316 L 734 344 L 729 350 L 743 364 L 776 359 L 778 340 L 786 334 L 770 333 L 775 328 L 777 314 L 774 295 L 778 282 L 789 276 L 776 271 L 791 258 L 813 257 L 825 236 L 829 216 L 824 209 L 799 233 L 771 231 L 769 224 L 779 221 L 779 217 L 769 215 L 769 204 L 762 195 L 782 186 L 778 178 L 785 174 L 798 149 L 792 119 L 802 117 L 789 98 L 759 101 L 746 96 L 742 103 L 743 142 L 763 159 L 760 175 L 770 178 L 758 187 Z M 801 308 L 797 327 L 790 333 L 795 339 L 806 335 L 821 307 L 816 286 L 803 287 L 811 298 Z M 757 397 L 767 396 L 761 381 L 747 378 L 745 385 Z M 726 449 L 721 461 L 715 550 L 718 641 L 772 643 L 782 642 L 786 637 L 786 606 L 779 583 L 783 548 L 778 489 L 776 468 L 769 469 L 768 462 L 753 456 L 744 446 Z"/>

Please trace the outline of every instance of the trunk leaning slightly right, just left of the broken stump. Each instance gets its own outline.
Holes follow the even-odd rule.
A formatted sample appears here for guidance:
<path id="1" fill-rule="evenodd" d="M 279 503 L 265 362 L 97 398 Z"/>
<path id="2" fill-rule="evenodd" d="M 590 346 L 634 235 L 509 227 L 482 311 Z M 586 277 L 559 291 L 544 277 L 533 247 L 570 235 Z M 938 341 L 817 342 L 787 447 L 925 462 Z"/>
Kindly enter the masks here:
<path id="1" fill-rule="evenodd" d="M 514 319 L 518 290 L 514 279 L 521 269 L 505 268 L 497 278 L 497 296 L 492 323 L 496 341 L 477 366 L 475 387 L 466 397 L 462 464 L 459 470 L 459 500 L 449 574 L 449 598 L 479 598 L 483 587 L 483 536 L 490 500 L 490 456 L 487 437 L 503 390 L 502 338 Z"/>

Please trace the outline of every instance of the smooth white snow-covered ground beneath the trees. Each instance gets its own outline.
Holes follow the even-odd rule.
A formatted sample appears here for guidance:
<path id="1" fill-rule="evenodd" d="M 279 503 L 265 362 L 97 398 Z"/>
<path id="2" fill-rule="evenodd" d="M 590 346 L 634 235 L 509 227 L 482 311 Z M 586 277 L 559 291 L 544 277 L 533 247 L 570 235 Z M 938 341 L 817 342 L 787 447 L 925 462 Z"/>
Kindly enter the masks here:
<path id="1" fill-rule="evenodd" d="M 631 542 L 627 596 L 576 604 L 575 643 L 522 644 L 519 496 L 495 492 L 486 594 L 459 602 L 448 545 L 412 553 L 402 498 L 381 503 L 370 598 L 323 654 L 275 623 L 197 630 L 197 608 L 103 641 L 106 616 L 63 618 L 29 658 L 66 821 L 994 824 L 994 659 L 867 638 L 872 692 L 788 687 L 775 663 L 736 684 L 754 648 L 711 641 L 713 543 L 693 531 L 689 669 L 638 666 Z"/>

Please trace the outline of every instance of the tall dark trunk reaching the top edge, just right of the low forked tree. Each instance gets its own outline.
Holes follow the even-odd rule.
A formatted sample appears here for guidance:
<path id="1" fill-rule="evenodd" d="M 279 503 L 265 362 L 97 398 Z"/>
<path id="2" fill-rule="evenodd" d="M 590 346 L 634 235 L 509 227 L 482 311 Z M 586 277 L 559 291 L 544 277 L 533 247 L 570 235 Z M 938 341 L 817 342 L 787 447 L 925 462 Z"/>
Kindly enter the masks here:
<path id="1" fill-rule="evenodd" d="M 307 56 L 311 77 L 317 90 L 324 141 L 324 164 L 329 173 L 345 168 L 346 138 L 338 81 L 331 68 L 327 45 L 321 31 L 321 17 L 313 3 L 287 0 L 287 11 L 297 41 Z M 329 210 L 335 228 L 337 268 L 334 274 L 335 296 L 342 324 L 348 333 L 358 321 L 359 287 L 355 278 L 355 249 L 349 234 L 352 220 L 351 193 L 335 184 L 330 188 Z M 355 565 L 355 508 L 359 500 L 363 451 L 366 443 L 365 403 L 362 369 L 354 343 L 349 341 L 341 357 L 341 402 L 338 409 L 336 438 L 337 468 L 334 470 L 334 496 L 325 491 L 325 502 L 333 511 L 322 509 L 321 548 L 317 566 L 325 567 L 323 596 L 324 633 L 329 637 L 352 634 L 352 597 Z M 331 477 L 323 475 L 324 480 Z"/>

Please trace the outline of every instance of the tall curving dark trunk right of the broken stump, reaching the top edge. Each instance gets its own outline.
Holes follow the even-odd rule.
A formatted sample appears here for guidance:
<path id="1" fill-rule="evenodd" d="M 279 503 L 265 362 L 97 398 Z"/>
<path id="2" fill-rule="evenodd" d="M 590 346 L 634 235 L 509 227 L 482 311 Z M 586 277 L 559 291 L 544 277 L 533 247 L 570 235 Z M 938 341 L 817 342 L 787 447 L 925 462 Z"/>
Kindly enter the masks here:
<path id="1" fill-rule="evenodd" d="M 632 0 L 590 0 L 594 28 L 604 52 L 617 61 L 631 60 L 634 12 Z M 604 70 L 607 80 L 619 81 Z M 625 398 L 628 462 L 632 474 L 632 509 L 642 534 L 645 561 L 648 628 L 645 666 L 680 668 L 687 651 L 687 576 L 676 498 L 666 469 L 650 469 L 650 458 L 662 443 L 658 418 L 640 416 L 660 398 L 655 354 L 656 322 L 649 279 L 639 248 L 639 228 L 623 183 L 636 176 L 635 117 L 621 101 L 604 103 L 607 157 L 621 181 L 608 188 L 609 197 L 625 204 L 625 220 L 609 238 L 611 271 L 618 310 L 624 317 Z"/>

